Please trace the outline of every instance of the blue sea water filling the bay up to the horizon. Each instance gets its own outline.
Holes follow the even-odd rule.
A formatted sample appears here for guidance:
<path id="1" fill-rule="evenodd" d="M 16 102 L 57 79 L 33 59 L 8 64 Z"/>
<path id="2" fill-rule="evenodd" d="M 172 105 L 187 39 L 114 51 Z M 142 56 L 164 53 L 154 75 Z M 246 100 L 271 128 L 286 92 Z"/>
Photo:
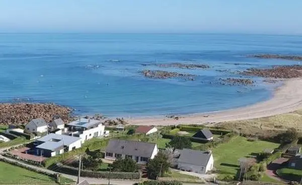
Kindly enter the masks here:
<path id="1" fill-rule="evenodd" d="M 187 114 L 249 105 L 270 98 L 272 85 L 220 85 L 245 70 L 297 61 L 249 54 L 302 55 L 302 36 L 248 34 L 0 34 L 0 101 L 54 102 L 76 113 L 106 116 Z M 195 81 L 146 79 L 139 71 L 168 63 L 208 64 L 173 69 Z M 235 65 L 237 64 L 237 65 Z M 242 64 L 242 65 L 238 65 Z"/>

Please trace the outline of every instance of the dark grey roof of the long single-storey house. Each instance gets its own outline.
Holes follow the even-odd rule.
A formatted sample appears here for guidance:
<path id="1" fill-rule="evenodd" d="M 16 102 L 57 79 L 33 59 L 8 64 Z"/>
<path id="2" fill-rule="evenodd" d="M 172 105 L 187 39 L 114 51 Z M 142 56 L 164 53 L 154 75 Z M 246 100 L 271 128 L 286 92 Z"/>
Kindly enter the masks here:
<path id="1" fill-rule="evenodd" d="M 155 146 L 155 143 L 111 139 L 106 152 L 149 158 L 152 156 Z"/>

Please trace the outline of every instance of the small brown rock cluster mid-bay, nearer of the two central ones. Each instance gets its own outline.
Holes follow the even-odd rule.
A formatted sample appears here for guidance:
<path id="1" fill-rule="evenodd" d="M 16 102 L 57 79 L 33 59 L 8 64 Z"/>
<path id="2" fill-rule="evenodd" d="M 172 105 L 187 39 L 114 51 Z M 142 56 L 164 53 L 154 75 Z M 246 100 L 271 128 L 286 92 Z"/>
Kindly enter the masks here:
<path id="1" fill-rule="evenodd" d="M 143 70 L 141 73 L 146 78 L 153 78 L 153 79 L 182 78 L 186 80 L 194 80 L 193 77 L 196 76 L 192 74 L 182 74 L 182 73 L 167 72 L 167 71 L 160 71 L 160 70 Z"/>

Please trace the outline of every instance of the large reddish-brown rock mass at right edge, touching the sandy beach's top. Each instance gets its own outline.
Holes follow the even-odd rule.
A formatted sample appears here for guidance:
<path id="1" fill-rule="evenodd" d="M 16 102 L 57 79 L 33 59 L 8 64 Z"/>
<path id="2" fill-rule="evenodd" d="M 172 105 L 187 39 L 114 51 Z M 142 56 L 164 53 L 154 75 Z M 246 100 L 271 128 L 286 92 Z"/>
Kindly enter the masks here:
<path id="1" fill-rule="evenodd" d="M 255 69 L 251 68 L 242 72 L 243 75 L 258 76 L 265 78 L 299 78 L 302 77 L 302 66 L 274 66 L 271 69 Z"/>

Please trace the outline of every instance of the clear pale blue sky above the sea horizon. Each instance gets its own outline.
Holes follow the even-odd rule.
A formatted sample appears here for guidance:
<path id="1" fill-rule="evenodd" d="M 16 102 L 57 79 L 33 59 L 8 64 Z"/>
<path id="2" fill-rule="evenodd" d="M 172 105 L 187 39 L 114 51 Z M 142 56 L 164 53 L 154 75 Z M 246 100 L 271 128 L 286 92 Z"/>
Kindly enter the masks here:
<path id="1" fill-rule="evenodd" d="M 302 0 L 0 0 L 0 32 L 302 34 Z"/>

